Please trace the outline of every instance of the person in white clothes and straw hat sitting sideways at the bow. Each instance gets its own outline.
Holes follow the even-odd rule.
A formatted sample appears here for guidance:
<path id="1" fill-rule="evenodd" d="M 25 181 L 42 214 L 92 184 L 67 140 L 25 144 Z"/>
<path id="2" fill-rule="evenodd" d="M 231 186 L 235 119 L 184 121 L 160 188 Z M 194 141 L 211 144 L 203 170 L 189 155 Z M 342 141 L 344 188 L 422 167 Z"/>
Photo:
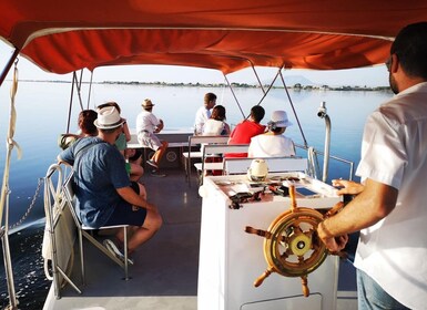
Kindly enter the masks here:
<path id="1" fill-rule="evenodd" d="M 155 135 L 163 130 L 164 123 L 153 114 L 153 106 L 154 104 L 150 99 L 145 99 L 142 103 L 142 112 L 136 116 L 138 142 L 143 147 L 154 151 L 153 156 L 146 163 L 153 167 L 151 173 L 153 176 L 163 177 L 165 175 L 159 173 L 159 163 L 166 152 L 169 143 L 160 141 Z"/>

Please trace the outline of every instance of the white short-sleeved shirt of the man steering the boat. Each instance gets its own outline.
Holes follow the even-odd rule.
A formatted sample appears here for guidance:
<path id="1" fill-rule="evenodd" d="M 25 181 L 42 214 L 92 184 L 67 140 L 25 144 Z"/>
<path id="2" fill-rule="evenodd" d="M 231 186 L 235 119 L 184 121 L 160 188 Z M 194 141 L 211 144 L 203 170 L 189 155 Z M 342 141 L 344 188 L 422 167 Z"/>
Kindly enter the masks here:
<path id="1" fill-rule="evenodd" d="M 356 172 L 397 188 L 395 209 L 363 229 L 355 266 L 410 309 L 427 309 L 427 83 L 367 120 Z"/>

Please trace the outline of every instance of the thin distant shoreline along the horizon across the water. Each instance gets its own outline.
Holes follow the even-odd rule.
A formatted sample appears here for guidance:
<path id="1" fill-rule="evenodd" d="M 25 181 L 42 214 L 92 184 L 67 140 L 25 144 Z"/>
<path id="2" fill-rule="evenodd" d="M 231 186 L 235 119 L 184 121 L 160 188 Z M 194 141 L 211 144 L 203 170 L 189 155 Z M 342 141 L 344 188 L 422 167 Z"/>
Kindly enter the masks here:
<path id="1" fill-rule="evenodd" d="M 60 81 L 60 80 L 20 80 L 20 82 L 31 82 L 31 83 L 65 83 L 71 84 L 71 81 Z M 90 82 L 82 82 L 82 84 L 89 84 Z M 166 82 L 121 82 L 121 81 L 103 81 L 103 82 L 92 82 L 93 84 L 111 84 L 111 85 L 130 85 L 130 86 L 170 86 L 170 87 L 224 87 L 228 86 L 224 83 L 166 83 Z M 260 89 L 260 85 L 246 84 L 246 83 L 231 83 L 233 89 Z M 263 85 L 263 87 L 267 89 L 270 85 Z M 272 89 L 284 89 L 284 86 L 272 86 Z M 329 86 L 329 85 L 304 85 L 301 83 L 296 83 L 294 85 L 287 86 L 289 90 L 294 91 L 363 91 L 363 92 L 388 92 L 390 91 L 389 86 Z"/>

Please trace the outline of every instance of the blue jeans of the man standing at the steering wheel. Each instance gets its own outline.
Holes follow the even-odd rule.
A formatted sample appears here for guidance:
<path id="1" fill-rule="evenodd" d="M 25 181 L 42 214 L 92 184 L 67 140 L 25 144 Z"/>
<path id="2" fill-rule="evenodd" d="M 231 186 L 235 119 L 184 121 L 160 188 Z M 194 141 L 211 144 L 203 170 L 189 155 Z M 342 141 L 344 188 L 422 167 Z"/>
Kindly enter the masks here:
<path id="1" fill-rule="evenodd" d="M 357 300 L 358 310 L 410 310 L 359 269 L 357 269 Z"/>

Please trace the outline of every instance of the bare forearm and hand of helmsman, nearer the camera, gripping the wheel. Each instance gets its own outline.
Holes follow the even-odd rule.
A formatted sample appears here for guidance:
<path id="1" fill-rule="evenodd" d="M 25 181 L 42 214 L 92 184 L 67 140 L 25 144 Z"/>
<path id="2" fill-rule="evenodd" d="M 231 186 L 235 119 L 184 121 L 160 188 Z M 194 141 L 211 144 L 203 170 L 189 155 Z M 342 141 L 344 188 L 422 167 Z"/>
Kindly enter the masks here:
<path id="1" fill-rule="evenodd" d="M 363 192 L 340 213 L 318 225 L 319 238 L 329 250 L 342 250 L 345 244 L 334 237 L 358 231 L 385 218 L 395 208 L 397 194 L 396 188 L 368 178 Z"/>

